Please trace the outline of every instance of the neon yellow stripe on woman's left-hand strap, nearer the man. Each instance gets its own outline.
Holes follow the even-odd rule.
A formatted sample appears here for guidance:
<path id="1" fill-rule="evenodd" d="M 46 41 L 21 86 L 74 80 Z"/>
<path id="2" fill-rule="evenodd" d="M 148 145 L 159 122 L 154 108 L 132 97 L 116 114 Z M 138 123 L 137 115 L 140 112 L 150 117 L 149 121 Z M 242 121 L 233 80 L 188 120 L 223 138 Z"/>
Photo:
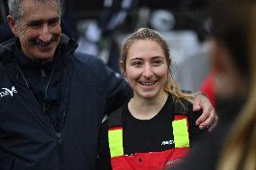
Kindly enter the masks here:
<path id="1" fill-rule="evenodd" d="M 108 145 L 111 157 L 123 156 L 123 129 L 108 130 Z"/>

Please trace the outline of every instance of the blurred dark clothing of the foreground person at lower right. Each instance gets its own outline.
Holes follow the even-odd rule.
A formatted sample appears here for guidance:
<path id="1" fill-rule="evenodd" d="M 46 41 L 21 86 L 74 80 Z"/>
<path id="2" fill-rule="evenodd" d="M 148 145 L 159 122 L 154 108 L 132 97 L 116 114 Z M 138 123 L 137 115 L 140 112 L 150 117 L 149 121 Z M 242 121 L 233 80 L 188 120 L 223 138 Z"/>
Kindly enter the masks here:
<path id="1" fill-rule="evenodd" d="M 224 140 L 244 102 L 244 98 L 241 97 L 226 100 L 217 98 L 216 112 L 220 121 L 216 129 L 199 141 L 190 151 L 190 155 L 171 170 L 215 170 L 221 150 L 224 148 Z"/>

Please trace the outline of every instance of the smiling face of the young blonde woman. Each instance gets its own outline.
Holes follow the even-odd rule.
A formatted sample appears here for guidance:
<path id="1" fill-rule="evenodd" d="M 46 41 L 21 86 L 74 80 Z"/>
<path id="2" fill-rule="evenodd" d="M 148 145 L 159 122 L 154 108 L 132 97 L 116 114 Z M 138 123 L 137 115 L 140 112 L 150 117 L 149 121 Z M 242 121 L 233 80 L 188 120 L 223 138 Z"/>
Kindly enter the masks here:
<path id="1" fill-rule="evenodd" d="M 164 94 L 168 76 L 166 57 L 160 45 L 153 40 L 137 40 L 128 49 L 126 69 L 134 97 L 153 98 Z"/>

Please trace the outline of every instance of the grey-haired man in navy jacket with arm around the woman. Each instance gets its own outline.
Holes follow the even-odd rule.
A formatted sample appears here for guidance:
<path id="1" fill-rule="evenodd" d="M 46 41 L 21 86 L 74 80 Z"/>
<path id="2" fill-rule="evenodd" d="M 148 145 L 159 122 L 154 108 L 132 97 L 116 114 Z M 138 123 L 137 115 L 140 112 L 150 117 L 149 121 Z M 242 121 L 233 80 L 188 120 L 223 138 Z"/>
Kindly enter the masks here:
<path id="1" fill-rule="evenodd" d="M 0 46 L 0 169 L 95 169 L 101 121 L 129 100 L 130 87 L 100 59 L 75 58 L 59 0 L 8 6 L 16 38 Z M 205 113 L 197 124 L 206 127 L 215 111 L 199 96 L 194 107 Z"/>

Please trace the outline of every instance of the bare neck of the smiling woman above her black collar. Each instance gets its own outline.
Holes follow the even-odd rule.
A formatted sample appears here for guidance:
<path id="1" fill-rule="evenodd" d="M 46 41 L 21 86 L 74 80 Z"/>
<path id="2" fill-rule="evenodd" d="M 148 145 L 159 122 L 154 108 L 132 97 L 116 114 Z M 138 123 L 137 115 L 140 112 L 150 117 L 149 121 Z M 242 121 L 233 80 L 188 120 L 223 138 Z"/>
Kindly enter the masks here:
<path id="1" fill-rule="evenodd" d="M 128 109 L 133 117 L 138 120 L 151 120 L 151 118 L 160 112 L 167 101 L 168 95 L 166 92 L 163 92 L 151 99 L 134 95 L 128 103 Z"/>

